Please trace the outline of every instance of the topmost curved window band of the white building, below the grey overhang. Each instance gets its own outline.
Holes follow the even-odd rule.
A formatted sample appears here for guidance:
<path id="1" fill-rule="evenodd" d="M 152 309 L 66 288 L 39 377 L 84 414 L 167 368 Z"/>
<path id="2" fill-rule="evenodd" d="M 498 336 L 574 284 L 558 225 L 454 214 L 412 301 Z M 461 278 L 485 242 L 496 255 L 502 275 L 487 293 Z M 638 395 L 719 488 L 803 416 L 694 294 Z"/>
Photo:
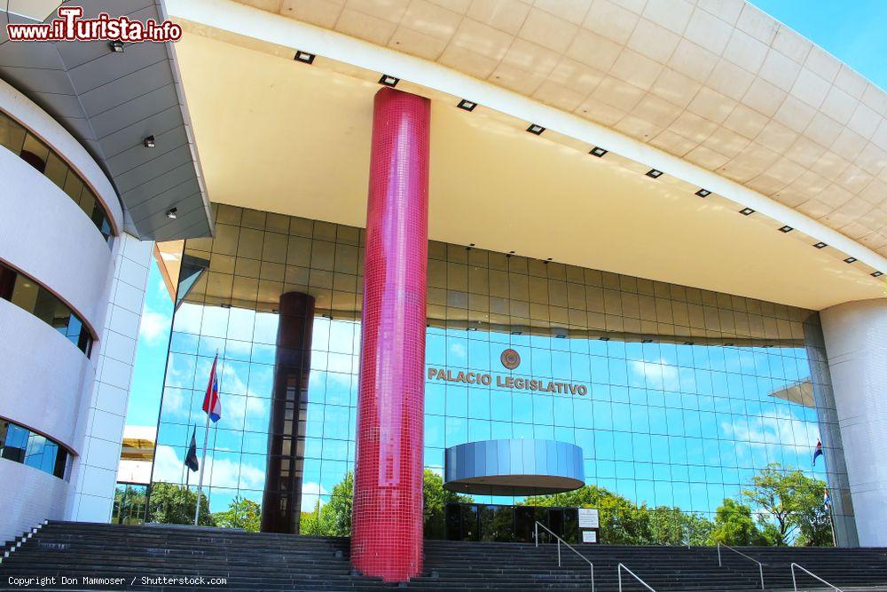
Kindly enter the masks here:
<path id="1" fill-rule="evenodd" d="M 46 146 L 41 139 L 3 111 L 0 111 L 0 146 L 8 148 L 13 154 L 19 154 L 21 160 L 59 185 L 59 188 L 90 217 L 92 224 L 96 225 L 105 241 L 110 240 L 114 234 L 111 229 L 111 218 L 89 185 L 83 182 L 80 175 L 59 153 Z"/>

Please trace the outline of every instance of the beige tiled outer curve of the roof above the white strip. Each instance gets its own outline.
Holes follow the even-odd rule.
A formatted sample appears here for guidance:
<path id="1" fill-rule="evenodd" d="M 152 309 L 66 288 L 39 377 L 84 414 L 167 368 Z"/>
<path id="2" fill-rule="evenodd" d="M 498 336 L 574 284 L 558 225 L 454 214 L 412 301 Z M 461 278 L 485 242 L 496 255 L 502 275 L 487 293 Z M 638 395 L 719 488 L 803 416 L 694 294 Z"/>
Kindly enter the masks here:
<path id="1" fill-rule="evenodd" d="M 744 0 L 237 2 L 600 123 L 887 256 L 887 93 Z"/>

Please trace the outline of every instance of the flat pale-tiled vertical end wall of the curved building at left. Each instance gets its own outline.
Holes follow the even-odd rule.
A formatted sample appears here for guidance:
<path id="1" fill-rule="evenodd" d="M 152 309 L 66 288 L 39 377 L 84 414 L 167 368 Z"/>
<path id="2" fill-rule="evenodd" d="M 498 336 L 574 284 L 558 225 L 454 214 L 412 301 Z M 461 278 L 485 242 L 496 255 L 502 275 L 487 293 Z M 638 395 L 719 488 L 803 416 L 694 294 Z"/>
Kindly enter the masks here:
<path id="1" fill-rule="evenodd" d="M 145 302 L 152 241 L 121 233 L 114 245 L 114 276 L 109 279 L 105 320 L 99 331 L 96 380 L 83 385 L 77 444 L 71 473 L 68 518 L 107 522 L 136 359 L 138 327 Z M 95 354 L 93 354 L 95 355 Z"/>

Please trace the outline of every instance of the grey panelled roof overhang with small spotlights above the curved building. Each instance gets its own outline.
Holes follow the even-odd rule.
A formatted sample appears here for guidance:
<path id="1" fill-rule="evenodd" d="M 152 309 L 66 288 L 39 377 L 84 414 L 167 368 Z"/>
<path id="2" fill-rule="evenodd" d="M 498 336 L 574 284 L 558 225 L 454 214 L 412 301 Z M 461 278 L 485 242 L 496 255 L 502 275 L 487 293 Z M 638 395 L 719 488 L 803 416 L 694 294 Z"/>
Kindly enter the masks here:
<path id="1" fill-rule="evenodd" d="M 10 0 L 10 12 L 0 12 L 0 76 L 65 126 L 105 170 L 127 232 L 159 241 L 208 236 L 208 198 L 169 43 L 128 43 L 117 53 L 104 41 L 9 41 L 7 20 L 30 22 L 13 7 L 39 6 L 39 15 L 50 4 Z M 166 18 L 159 0 L 71 4 L 82 6 L 85 18 L 99 12 Z M 156 146 L 147 149 L 143 139 L 151 135 Z M 172 207 L 176 219 L 166 216 Z"/>

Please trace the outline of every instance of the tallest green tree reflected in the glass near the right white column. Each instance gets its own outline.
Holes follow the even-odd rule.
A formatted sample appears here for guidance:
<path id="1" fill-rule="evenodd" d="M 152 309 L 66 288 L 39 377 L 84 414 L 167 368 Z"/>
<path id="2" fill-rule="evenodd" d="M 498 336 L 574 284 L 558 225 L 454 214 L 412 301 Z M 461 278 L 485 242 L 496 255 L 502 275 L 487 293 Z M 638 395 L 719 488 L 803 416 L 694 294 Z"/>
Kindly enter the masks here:
<path id="1" fill-rule="evenodd" d="M 828 515 L 822 508 L 825 486 L 821 479 L 773 462 L 752 479 L 752 486 L 742 494 L 757 509 L 758 525 L 770 544 L 804 544 L 823 541 L 826 533 L 830 537 Z"/>

